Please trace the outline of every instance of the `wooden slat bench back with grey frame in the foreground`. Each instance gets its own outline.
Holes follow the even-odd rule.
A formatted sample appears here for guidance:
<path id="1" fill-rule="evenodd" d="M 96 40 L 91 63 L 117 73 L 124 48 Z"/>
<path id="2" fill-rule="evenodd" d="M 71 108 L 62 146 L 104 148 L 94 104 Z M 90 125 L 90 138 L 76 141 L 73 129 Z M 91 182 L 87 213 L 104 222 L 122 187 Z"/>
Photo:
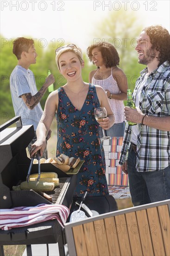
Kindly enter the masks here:
<path id="1" fill-rule="evenodd" d="M 70 256 L 169 256 L 170 200 L 66 223 Z"/>

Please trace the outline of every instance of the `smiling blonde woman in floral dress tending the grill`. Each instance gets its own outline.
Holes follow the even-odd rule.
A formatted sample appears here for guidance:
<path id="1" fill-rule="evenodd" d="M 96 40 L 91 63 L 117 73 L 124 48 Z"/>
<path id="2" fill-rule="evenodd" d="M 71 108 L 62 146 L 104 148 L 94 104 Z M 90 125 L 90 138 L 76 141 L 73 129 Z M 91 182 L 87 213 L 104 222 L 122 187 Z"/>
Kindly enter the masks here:
<path id="1" fill-rule="evenodd" d="M 88 195 L 108 195 L 105 157 L 99 138 L 99 126 L 107 130 L 114 123 L 107 95 L 100 86 L 82 80 L 84 61 L 82 51 L 76 45 L 57 48 L 56 62 L 67 83 L 49 95 L 31 155 L 39 149 L 43 152 L 45 136 L 56 115 L 57 156 L 65 154 L 85 161 L 77 174 L 74 196 L 82 196 L 85 190 Z M 107 110 L 107 118 L 100 124 L 94 118 L 94 108 L 99 107 Z"/>

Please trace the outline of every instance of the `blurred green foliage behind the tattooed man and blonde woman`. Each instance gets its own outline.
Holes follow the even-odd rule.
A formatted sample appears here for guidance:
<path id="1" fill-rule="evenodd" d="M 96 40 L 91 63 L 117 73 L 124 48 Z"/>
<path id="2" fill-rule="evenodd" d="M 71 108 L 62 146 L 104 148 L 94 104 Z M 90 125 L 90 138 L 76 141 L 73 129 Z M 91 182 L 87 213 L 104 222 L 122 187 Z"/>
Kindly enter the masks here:
<path id="1" fill-rule="evenodd" d="M 31 36 L 27 36 L 31 38 Z M 1 35 L 3 41 L 3 35 Z M 13 54 L 13 40 L 4 40 L 4 44 L 0 47 L 0 123 L 4 123 L 11 119 L 14 114 L 13 103 L 10 92 L 10 75 L 13 68 L 17 65 L 18 60 Z M 42 87 L 45 82 L 45 78 L 48 75 L 48 70 L 55 76 L 54 89 L 63 86 L 66 83 L 64 77 L 60 74 L 57 69 L 55 60 L 55 47 L 53 44 L 48 44 L 45 48 L 39 45 L 39 40 L 35 40 L 35 48 L 38 54 L 37 63 L 30 66 L 32 70 L 38 90 Z M 65 43 L 66 45 L 69 43 Z M 57 48 L 57 47 L 56 47 Z M 91 70 L 87 55 L 83 54 L 85 66 L 82 69 L 83 80 L 88 82 L 88 74 Z M 49 95 L 48 90 L 44 94 L 41 100 L 41 106 L 44 109 L 45 101 Z"/>

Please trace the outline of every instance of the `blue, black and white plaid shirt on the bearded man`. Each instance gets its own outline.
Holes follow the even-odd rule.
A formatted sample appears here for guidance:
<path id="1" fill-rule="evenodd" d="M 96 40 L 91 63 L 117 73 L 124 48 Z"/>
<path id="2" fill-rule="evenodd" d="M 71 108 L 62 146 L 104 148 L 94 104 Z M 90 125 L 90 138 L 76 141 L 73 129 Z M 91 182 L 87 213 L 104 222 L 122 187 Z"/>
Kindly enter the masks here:
<path id="1" fill-rule="evenodd" d="M 147 67 L 140 72 L 133 92 L 133 101 L 141 82 L 148 72 Z M 139 95 L 139 108 L 143 114 L 154 117 L 170 115 L 170 65 L 165 61 L 155 69 L 147 79 Z M 170 125 L 170 123 L 169 123 Z M 137 162 L 136 169 L 139 172 L 161 170 L 170 165 L 170 132 L 151 128 L 139 124 L 137 138 Z M 123 145 L 121 148 L 119 164 L 126 159 L 126 153 L 130 146 L 132 127 L 126 123 Z"/>

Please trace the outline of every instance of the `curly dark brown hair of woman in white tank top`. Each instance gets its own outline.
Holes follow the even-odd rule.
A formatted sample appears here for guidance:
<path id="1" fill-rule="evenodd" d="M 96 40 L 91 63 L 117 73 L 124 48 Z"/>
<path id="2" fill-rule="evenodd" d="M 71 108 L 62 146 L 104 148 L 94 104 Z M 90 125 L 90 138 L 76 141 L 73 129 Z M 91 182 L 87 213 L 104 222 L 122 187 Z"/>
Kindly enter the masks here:
<path id="1" fill-rule="evenodd" d="M 97 43 L 89 46 L 87 48 L 87 54 L 89 60 L 92 62 L 92 50 L 94 48 L 99 48 L 101 51 L 101 56 L 103 58 L 106 67 L 113 67 L 119 65 L 119 54 L 112 44 L 107 42 Z"/>

